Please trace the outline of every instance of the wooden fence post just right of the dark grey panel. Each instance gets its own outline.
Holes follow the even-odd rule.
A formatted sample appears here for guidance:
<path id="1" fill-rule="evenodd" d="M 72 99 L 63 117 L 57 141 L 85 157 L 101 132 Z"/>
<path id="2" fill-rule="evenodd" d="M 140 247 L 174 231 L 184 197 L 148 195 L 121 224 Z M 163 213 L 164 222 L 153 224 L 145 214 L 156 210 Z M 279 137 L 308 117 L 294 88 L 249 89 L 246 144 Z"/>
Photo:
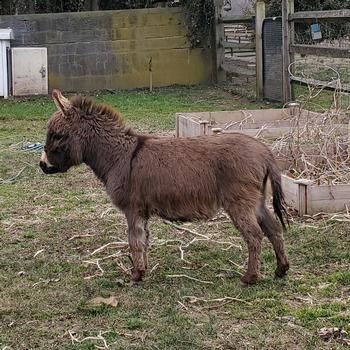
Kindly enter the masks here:
<path id="1" fill-rule="evenodd" d="M 289 15 L 294 12 L 294 0 L 282 0 L 282 54 L 283 54 L 283 102 L 292 99 L 292 84 L 289 76 L 290 43 L 294 40 L 294 27 L 289 24 Z"/>

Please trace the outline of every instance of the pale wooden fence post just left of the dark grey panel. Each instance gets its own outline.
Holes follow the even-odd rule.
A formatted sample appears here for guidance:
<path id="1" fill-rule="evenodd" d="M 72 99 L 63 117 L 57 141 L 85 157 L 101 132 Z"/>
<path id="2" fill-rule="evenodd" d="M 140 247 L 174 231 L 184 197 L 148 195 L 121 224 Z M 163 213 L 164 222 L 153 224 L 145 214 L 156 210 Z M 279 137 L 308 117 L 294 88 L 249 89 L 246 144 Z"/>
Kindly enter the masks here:
<path id="1" fill-rule="evenodd" d="M 262 30 L 265 19 L 265 2 L 258 0 L 255 11 L 255 53 L 256 53 L 256 99 L 264 98 L 263 40 Z"/>

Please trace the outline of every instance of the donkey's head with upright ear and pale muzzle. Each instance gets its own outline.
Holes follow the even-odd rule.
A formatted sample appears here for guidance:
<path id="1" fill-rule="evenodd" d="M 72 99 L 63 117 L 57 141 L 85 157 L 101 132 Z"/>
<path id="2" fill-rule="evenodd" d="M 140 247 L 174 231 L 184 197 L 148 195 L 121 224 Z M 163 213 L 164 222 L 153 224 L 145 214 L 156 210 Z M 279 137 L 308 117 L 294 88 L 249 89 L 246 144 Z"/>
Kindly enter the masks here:
<path id="1" fill-rule="evenodd" d="M 53 90 L 52 97 L 58 111 L 49 120 L 46 145 L 40 160 L 45 174 L 65 172 L 83 161 L 81 111 L 58 90 Z"/>

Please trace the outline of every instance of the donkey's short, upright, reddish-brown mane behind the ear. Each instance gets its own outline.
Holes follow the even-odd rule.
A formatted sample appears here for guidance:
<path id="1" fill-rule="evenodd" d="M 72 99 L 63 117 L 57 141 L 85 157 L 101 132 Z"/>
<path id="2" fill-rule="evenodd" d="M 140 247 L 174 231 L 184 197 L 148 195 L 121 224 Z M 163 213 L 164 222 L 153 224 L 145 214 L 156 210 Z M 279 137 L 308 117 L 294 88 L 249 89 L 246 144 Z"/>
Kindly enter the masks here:
<path id="1" fill-rule="evenodd" d="M 100 120 L 115 122 L 119 127 L 126 128 L 121 114 L 111 106 L 103 103 L 97 103 L 89 97 L 77 95 L 72 98 L 71 103 L 74 107 L 85 112 L 87 118 L 98 117 Z"/>

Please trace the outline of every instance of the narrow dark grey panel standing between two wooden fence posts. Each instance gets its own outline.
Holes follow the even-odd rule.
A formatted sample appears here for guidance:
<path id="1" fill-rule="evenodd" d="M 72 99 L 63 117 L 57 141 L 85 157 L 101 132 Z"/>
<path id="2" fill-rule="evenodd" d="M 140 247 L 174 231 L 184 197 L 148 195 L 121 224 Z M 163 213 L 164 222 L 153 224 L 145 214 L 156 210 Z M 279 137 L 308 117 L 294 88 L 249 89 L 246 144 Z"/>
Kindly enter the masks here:
<path id="1" fill-rule="evenodd" d="M 283 100 L 282 19 L 267 18 L 263 24 L 264 98 Z"/>

